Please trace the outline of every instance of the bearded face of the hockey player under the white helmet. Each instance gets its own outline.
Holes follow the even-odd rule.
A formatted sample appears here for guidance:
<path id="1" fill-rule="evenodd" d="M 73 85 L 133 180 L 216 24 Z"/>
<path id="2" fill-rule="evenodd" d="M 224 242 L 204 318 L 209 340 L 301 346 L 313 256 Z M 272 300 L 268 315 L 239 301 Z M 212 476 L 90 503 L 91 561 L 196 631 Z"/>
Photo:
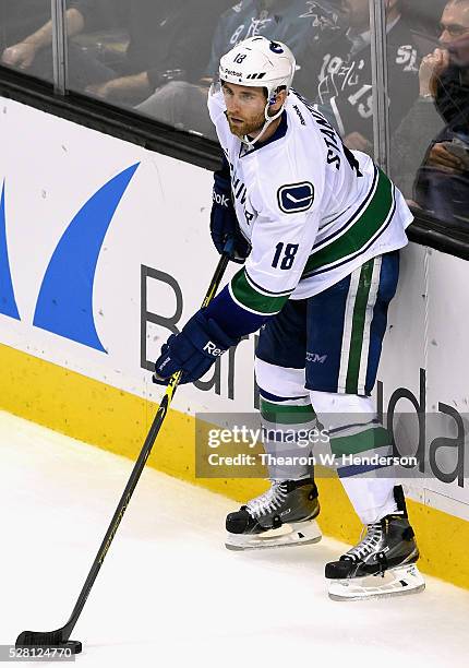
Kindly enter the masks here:
<path id="1" fill-rule="evenodd" d="M 237 136 L 255 136 L 265 122 L 264 88 L 224 83 L 223 92 L 231 132 Z"/>

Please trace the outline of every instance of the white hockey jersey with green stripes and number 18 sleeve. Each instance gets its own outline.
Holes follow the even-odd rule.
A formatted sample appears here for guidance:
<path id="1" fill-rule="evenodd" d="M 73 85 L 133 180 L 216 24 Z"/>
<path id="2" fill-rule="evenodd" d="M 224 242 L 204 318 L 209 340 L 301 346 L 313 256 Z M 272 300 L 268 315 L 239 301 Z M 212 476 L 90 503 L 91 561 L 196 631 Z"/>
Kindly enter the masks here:
<path id="1" fill-rule="evenodd" d="M 229 129 L 223 93 L 208 110 L 230 165 L 240 229 L 252 251 L 231 281 L 234 301 L 274 314 L 288 298 L 330 287 L 366 260 L 407 244 L 412 214 L 386 175 L 344 147 L 328 121 L 290 91 L 281 124 L 246 146 Z"/>

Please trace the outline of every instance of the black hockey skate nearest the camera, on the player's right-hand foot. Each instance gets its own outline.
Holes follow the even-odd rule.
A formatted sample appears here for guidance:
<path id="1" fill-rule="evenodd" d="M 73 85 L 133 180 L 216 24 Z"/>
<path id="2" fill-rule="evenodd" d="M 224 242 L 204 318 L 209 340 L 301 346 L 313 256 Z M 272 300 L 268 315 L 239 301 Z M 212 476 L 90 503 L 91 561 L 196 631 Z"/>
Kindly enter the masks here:
<path id="1" fill-rule="evenodd" d="M 356 547 L 326 564 L 329 597 L 353 600 L 421 592 L 423 577 L 414 565 L 419 550 L 407 517 L 401 487 L 395 488 L 398 511 L 366 526 Z"/>

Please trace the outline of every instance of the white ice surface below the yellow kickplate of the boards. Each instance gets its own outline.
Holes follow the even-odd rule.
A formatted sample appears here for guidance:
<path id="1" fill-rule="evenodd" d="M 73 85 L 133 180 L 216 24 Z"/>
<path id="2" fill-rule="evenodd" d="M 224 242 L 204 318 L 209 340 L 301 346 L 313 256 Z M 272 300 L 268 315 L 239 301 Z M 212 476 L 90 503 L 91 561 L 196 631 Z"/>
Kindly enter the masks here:
<path id="1" fill-rule="evenodd" d="M 0 644 L 10 644 L 65 623 L 132 463 L 0 413 Z M 73 631 L 77 665 L 467 666 L 468 592 L 428 577 L 423 594 L 332 601 L 324 563 L 345 546 L 230 552 L 234 508 L 146 469 Z"/>

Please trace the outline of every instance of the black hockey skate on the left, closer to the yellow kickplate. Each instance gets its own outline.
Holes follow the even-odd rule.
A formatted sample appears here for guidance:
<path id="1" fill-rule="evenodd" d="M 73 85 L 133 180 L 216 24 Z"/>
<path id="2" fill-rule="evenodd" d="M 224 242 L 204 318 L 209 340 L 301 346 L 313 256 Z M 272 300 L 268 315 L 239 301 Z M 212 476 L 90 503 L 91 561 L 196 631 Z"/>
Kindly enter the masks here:
<path id="1" fill-rule="evenodd" d="M 313 480 L 272 480 L 270 489 L 227 516 L 229 550 L 249 550 L 321 540 Z"/>

